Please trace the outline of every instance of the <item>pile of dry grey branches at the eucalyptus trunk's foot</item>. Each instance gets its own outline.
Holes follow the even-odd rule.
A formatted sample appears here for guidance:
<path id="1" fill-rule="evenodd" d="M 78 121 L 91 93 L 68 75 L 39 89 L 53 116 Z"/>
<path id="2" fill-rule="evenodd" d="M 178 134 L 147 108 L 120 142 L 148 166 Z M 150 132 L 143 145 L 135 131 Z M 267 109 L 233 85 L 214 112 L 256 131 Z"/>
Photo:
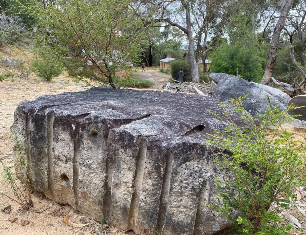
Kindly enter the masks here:
<path id="1" fill-rule="evenodd" d="M 203 81 L 204 85 L 199 85 L 193 82 L 181 83 L 174 79 L 173 81 L 175 83 L 168 82 L 165 89 L 171 90 L 174 93 L 197 93 L 202 96 L 211 96 L 213 93 L 213 87 L 215 85 L 213 81 L 209 83 L 205 83 Z"/>

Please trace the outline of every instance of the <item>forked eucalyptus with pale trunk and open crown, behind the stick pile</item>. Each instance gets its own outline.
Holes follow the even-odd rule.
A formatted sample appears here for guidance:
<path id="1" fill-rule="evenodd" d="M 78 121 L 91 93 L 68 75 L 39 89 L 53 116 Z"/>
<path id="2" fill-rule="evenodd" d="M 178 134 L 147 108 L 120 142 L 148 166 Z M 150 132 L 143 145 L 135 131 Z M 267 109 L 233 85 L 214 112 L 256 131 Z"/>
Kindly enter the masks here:
<path id="1" fill-rule="evenodd" d="M 187 37 L 188 61 L 192 81 L 199 83 L 198 66 L 201 58 L 207 55 L 207 41 L 219 36 L 234 11 L 234 0 L 153 0 L 140 1 L 136 12 L 138 17 L 144 13 L 154 19 L 152 27 L 176 27 Z M 231 9 L 231 10 L 229 10 Z M 151 13 L 150 13 L 151 12 Z M 157 25 L 156 25 L 157 24 Z"/>

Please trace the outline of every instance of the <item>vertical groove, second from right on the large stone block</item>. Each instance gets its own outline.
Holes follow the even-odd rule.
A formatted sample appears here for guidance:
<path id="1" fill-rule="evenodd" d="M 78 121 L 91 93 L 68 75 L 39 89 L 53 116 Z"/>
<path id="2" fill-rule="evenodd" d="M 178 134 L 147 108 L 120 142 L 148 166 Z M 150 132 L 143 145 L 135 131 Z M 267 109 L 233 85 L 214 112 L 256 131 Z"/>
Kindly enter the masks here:
<path id="1" fill-rule="evenodd" d="M 173 168 L 172 150 L 168 149 L 166 153 L 166 169 L 162 182 L 162 192 L 160 194 L 160 200 L 159 200 L 157 224 L 155 227 L 155 230 L 158 231 L 159 233 L 162 232 L 162 229 L 164 228 L 166 222 L 172 168 Z"/>

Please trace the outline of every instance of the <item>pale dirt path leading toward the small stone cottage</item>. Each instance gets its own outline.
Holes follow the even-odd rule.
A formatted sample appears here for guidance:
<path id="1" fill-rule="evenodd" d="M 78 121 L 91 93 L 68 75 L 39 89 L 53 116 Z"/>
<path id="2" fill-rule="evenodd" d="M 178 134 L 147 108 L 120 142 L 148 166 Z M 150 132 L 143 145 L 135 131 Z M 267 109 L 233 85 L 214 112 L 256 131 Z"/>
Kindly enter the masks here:
<path id="1" fill-rule="evenodd" d="M 171 74 L 163 74 L 159 72 L 158 68 L 146 68 L 145 70 L 145 72 L 142 72 L 140 68 L 136 74 L 140 76 L 140 79 L 154 82 L 153 89 L 161 89 L 171 78 Z"/>

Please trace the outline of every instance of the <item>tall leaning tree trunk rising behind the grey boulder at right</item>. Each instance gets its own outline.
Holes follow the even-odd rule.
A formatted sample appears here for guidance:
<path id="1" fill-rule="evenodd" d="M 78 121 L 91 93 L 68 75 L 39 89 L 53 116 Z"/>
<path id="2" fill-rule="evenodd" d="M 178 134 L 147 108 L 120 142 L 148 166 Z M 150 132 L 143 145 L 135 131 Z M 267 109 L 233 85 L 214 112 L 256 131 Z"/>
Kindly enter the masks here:
<path id="1" fill-rule="evenodd" d="M 282 29 L 284 28 L 286 18 L 288 16 L 289 10 L 294 2 L 294 0 L 281 0 L 281 14 L 278 18 L 278 21 L 275 25 L 274 32 L 272 35 L 272 40 L 271 40 L 271 46 L 270 46 L 270 51 L 269 51 L 269 57 L 268 57 L 268 63 L 266 66 L 265 73 L 263 74 L 263 78 L 261 79 L 261 84 L 263 85 L 268 85 L 272 73 L 274 70 L 274 65 L 276 61 L 276 56 L 277 56 L 277 49 L 278 49 L 278 43 L 279 43 L 279 38 L 282 32 Z"/>

